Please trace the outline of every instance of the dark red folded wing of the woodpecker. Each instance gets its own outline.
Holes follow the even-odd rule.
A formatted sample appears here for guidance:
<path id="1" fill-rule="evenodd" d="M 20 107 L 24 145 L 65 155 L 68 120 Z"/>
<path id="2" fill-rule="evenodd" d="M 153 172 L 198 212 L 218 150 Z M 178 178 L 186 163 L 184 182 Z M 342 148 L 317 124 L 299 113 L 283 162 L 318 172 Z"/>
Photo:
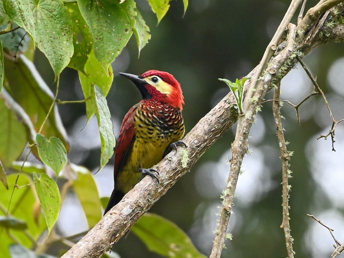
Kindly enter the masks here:
<path id="1" fill-rule="evenodd" d="M 115 184 L 118 172 L 128 162 L 135 141 L 134 115 L 138 107 L 139 104 L 136 104 L 128 111 L 123 119 L 121 130 L 119 131 L 114 167 Z"/>

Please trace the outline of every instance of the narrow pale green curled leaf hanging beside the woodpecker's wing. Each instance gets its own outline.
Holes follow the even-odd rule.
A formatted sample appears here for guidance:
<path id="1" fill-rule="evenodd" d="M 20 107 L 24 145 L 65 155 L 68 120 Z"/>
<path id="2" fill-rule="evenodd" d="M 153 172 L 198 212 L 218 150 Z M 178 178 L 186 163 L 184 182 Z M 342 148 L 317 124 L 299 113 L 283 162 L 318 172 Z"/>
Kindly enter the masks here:
<path id="1" fill-rule="evenodd" d="M 111 114 L 107 105 L 103 91 L 98 85 L 93 87 L 95 91 L 95 101 L 97 103 L 97 120 L 101 142 L 100 169 L 102 169 L 114 154 L 116 138 L 114 135 L 114 126 L 111 121 Z"/>

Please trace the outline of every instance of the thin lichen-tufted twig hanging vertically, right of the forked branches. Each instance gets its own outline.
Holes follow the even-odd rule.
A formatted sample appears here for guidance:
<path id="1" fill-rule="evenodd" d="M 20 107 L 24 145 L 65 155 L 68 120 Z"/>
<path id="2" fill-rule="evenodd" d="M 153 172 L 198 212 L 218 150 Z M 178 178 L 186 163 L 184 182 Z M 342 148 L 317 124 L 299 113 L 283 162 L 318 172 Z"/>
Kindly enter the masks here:
<path id="1" fill-rule="evenodd" d="M 273 93 L 273 98 L 279 100 L 280 98 L 280 83 L 277 84 L 275 91 Z M 282 159 L 282 225 L 281 228 L 284 231 L 284 238 L 286 239 L 287 245 L 287 254 L 288 258 L 294 257 L 293 251 L 293 238 L 290 234 L 290 225 L 289 225 L 289 191 L 291 186 L 288 183 L 289 178 L 291 177 L 291 171 L 289 170 L 289 160 L 290 153 L 287 151 L 287 144 L 283 134 L 282 118 L 281 118 L 281 106 L 279 101 L 274 101 L 272 103 L 273 117 L 275 118 L 276 123 L 276 134 L 278 138 L 278 145 L 281 151 Z"/>

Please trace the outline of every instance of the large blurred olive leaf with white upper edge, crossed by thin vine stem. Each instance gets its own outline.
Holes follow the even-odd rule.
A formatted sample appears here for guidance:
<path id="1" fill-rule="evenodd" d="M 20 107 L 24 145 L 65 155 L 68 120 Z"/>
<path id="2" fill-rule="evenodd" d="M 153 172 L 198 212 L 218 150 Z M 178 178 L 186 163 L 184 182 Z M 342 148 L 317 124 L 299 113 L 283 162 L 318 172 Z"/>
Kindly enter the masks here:
<path id="1" fill-rule="evenodd" d="M 37 72 L 33 63 L 24 55 L 20 55 L 16 63 L 8 59 L 4 61 L 6 74 L 4 88 L 8 90 L 13 99 L 28 114 L 35 131 L 38 132 L 54 101 L 54 95 Z M 41 133 L 47 138 L 51 136 L 59 138 L 68 152 L 67 134 L 56 105 L 49 114 Z M 33 152 L 38 157 L 35 149 L 33 149 Z"/>

